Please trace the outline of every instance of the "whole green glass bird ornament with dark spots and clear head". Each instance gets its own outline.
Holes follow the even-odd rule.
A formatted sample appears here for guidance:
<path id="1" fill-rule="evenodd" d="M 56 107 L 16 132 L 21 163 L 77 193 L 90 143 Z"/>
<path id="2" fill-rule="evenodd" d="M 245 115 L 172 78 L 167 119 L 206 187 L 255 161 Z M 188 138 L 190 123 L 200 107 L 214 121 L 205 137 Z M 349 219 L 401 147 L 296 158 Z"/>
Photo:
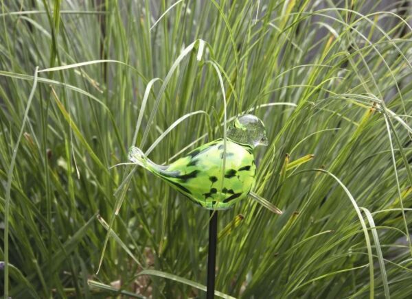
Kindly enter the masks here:
<path id="1" fill-rule="evenodd" d="M 223 139 L 201 145 L 170 165 L 153 163 L 134 146 L 130 147 L 128 159 L 203 208 L 224 210 L 249 195 L 274 213 L 282 214 L 279 208 L 252 191 L 256 180 L 253 150 L 258 145 L 268 145 L 263 122 L 254 115 L 242 115 L 227 130 L 225 174 Z"/>

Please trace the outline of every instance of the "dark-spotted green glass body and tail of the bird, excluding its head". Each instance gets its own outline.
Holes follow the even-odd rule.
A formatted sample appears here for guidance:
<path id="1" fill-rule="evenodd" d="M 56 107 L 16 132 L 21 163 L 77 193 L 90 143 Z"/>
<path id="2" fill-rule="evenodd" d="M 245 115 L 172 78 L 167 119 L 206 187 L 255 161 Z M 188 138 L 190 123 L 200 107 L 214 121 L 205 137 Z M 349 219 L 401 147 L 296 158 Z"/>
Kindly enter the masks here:
<path id="1" fill-rule="evenodd" d="M 256 177 L 251 146 L 227 139 L 225 175 L 224 154 L 223 139 L 217 139 L 201 145 L 168 166 L 153 163 L 137 147 L 130 148 L 129 158 L 203 208 L 222 210 L 247 198 Z"/>

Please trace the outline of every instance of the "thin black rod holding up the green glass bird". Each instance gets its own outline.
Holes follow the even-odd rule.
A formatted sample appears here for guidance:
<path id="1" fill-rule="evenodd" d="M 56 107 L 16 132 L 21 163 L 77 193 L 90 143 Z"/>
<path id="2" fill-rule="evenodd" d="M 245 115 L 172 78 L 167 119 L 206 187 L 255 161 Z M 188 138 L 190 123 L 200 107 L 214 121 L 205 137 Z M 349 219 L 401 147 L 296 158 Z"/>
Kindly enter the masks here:
<path id="1" fill-rule="evenodd" d="M 216 270 L 216 243 L 218 239 L 218 211 L 210 211 L 209 252 L 207 253 L 207 291 L 206 298 L 214 299 L 214 283 Z"/>

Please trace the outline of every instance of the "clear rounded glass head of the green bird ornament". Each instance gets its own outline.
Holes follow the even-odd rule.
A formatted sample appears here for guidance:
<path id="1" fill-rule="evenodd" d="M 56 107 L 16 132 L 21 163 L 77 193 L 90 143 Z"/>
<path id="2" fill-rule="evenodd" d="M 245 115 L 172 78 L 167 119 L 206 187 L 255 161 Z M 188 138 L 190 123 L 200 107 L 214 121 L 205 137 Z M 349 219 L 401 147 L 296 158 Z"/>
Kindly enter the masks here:
<path id="1" fill-rule="evenodd" d="M 263 122 L 255 115 L 241 115 L 231 123 L 227 137 L 236 143 L 251 145 L 268 145 L 266 129 Z"/>

